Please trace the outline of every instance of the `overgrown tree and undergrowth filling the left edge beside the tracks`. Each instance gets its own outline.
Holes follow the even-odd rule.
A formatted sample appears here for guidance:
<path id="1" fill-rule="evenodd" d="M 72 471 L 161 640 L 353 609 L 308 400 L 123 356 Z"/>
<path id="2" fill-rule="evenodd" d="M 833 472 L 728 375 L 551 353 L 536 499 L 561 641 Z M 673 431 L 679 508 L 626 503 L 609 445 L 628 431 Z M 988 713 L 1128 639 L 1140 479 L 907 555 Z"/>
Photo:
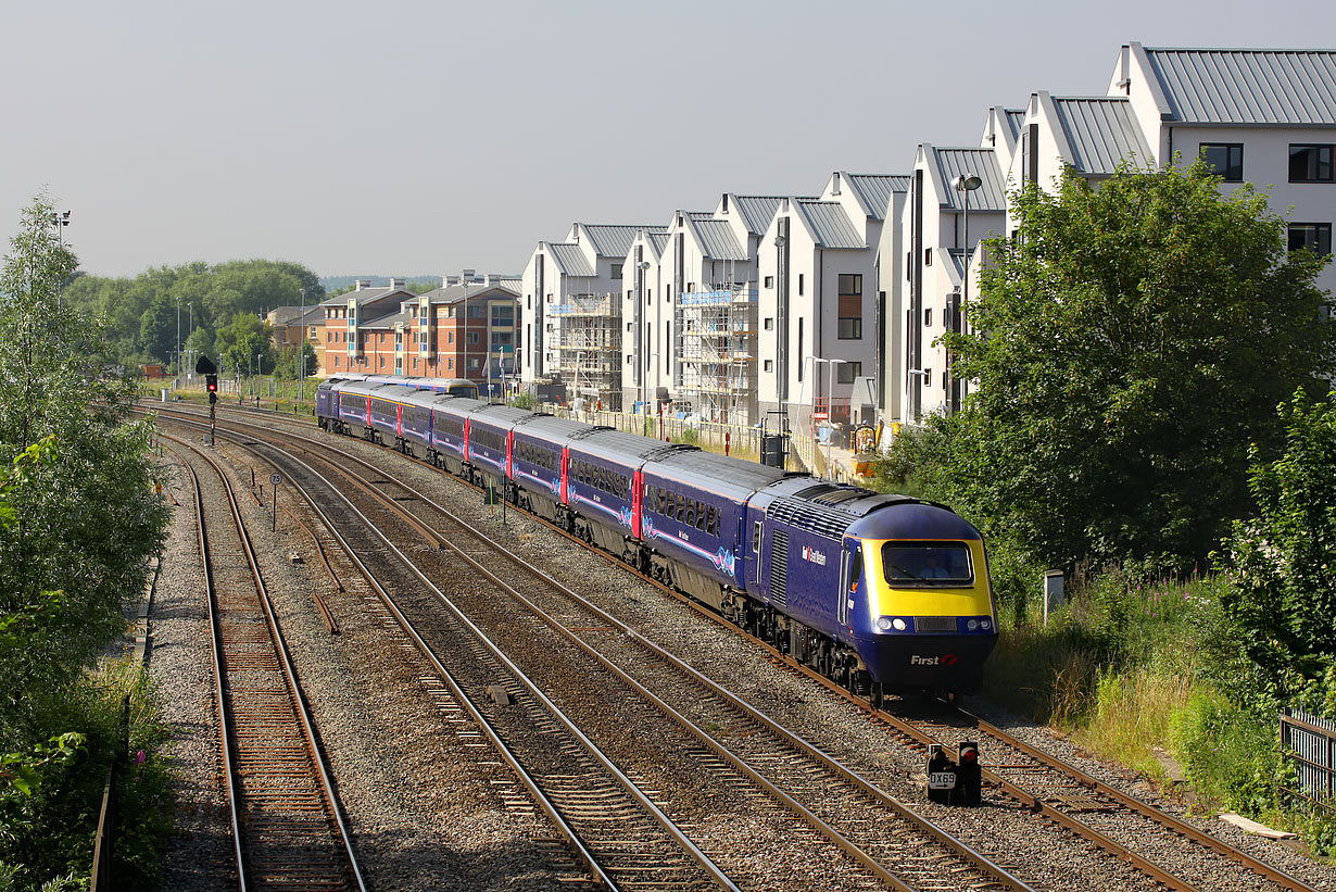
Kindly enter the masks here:
<path id="1" fill-rule="evenodd" d="M 96 325 L 59 300 L 76 267 L 39 198 L 0 271 L 0 889 L 73 888 L 92 864 L 122 697 L 143 758 L 122 805 L 123 885 L 151 877 L 166 784 L 143 679 L 99 658 L 143 591 L 166 507 L 134 386 Z"/>

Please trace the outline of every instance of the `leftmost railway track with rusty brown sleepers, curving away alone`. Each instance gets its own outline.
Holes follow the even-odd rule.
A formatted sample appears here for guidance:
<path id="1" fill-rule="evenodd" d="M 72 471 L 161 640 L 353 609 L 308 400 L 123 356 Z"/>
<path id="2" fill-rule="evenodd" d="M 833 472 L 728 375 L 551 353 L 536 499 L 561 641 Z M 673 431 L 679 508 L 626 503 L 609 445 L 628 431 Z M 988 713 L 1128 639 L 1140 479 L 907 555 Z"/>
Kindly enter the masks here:
<path id="1" fill-rule="evenodd" d="M 195 493 L 238 887 L 365 889 L 236 493 L 212 457 L 175 443 Z M 196 463 L 226 508 L 206 499 Z"/>

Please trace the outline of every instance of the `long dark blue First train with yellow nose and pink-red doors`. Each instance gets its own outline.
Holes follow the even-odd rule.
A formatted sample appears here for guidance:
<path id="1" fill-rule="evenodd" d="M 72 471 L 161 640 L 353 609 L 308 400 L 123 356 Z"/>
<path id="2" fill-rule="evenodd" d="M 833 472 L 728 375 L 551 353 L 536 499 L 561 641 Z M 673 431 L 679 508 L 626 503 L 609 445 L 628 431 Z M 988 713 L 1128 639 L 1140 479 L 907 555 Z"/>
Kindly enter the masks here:
<path id="1" fill-rule="evenodd" d="M 983 539 L 946 506 L 413 378 L 330 378 L 315 413 L 498 493 L 875 703 L 973 690 L 997 643 Z"/>

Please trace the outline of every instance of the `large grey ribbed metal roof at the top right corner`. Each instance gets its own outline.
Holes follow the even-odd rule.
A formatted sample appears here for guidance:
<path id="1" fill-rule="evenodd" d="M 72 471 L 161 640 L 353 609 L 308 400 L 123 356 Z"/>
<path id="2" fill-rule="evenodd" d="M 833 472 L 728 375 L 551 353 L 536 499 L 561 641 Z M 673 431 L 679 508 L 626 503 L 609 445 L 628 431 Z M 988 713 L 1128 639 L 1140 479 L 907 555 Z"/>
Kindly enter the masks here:
<path id="1" fill-rule="evenodd" d="M 1336 126 L 1336 51 L 1144 52 L 1178 122 Z"/>

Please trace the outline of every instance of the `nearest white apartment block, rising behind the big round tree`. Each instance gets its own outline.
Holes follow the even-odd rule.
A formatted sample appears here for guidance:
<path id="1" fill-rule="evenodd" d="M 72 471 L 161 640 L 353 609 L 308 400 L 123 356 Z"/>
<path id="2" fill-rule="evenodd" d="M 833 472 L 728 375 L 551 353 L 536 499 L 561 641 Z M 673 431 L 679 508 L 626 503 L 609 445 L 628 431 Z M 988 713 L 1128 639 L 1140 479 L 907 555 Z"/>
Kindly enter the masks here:
<path id="1" fill-rule="evenodd" d="M 950 357 L 934 341 L 947 325 L 962 324 L 950 304 L 965 290 L 962 270 L 969 266 L 969 289 L 977 294 L 982 258 L 974 249 L 979 238 L 1015 229 L 1006 193 L 1027 182 L 1053 190 L 1063 169 L 1098 183 L 1122 162 L 1154 169 L 1176 155 L 1182 163 L 1205 158 L 1224 178 L 1224 191 L 1250 182 L 1269 195 L 1271 210 L 1287 219 L 1291 250 L 1312 247 L 1329 254 L 1336 221 L 1336 52 L 1129 43 L 1118 53 L 1106 95 L 1039 91 L 1023 110 L 994 107 L 981 146 L 991 150 L 1001 181 L 994 183 L 985 175 L 981 163 L 969 164 L 983 182 L 971 193 L 963 239 L 963 209 L 955 190 L 945 197 L 943 190 L 965 171 L 941 158 L 947 150 L 919 147 L 914 182 L 916 187 L 922 177 L 923 231 L 919 238 L 919 199 L 911 190 L 904 215 L 906 239 L 912 245 L 906 270 L 907 337 L 903 362 L 891 360 L 906 400 L 896 413 L 886 395 L 883 409 L 892 419 L 912 423 L 931 412 L 953 411 L 967 392 L 969 382 L 951 380 Z M 938 214 L 933 213 L 934 199 L 942 201 Z M 954 262 L 942 265 L 943 254 Z M 929 271 L 930 257 L 935 274 Z M 1328 266 L 1317 285 L 1332 292 L 1336 269 Z"/>

